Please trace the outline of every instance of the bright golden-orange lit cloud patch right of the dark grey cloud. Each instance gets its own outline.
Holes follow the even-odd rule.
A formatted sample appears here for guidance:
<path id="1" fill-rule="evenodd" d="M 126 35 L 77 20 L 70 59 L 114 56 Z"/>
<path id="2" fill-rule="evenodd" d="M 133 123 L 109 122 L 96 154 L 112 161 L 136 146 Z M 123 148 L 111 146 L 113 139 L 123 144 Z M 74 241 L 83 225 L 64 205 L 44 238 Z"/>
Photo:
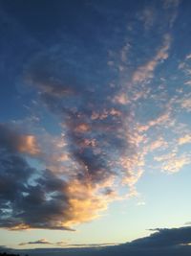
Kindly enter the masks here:
<path id="1" fill-rule="evenodd" d="M 116 198 L 114 194 L 100 193 L 105 185 L 106 183 L 95 186 L 90 182 L 71 181 L 67 192 L 70 207 L 64 213 L 67 218 L 64 225 L 72 226 L 98 218 L 100 212 L 107 209 L 108 203 Z"/>

